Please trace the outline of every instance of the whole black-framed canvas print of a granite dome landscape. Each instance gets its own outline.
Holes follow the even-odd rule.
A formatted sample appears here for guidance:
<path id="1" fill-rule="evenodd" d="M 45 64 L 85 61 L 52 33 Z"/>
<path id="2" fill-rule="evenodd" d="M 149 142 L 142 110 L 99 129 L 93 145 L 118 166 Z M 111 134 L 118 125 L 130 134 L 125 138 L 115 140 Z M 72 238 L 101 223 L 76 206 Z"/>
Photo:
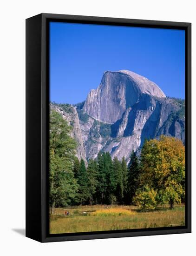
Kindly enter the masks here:
<path id="1" fill-rule="evenodd" d="M 191 232 L 191 24 L 26 20 L 26 236 Z"/>

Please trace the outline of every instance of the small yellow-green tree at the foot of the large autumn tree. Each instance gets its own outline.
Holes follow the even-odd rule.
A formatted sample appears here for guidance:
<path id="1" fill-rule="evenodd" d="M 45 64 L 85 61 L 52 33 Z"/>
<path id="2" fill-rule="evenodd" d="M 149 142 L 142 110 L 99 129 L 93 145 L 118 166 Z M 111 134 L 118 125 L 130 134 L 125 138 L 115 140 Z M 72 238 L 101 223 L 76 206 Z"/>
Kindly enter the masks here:
<path id="1" fill-rule="evenodd" d="M 134 197 L 133 202 L 140 209 L 152 210 L 157 206 L 157 191 L 149 188 L 148 185 L 144 186 L 144 189 L 138 189 Z"/>

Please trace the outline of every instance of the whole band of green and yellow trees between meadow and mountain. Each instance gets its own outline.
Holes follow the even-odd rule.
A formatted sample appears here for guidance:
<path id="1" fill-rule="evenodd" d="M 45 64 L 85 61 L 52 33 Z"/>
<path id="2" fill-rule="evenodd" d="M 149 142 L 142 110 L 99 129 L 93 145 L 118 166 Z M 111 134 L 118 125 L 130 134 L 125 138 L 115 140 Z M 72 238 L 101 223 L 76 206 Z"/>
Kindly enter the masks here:
<path id="1" fill-rule="evenodd" d="M 85 163 L 75 156 L 76 141 L 62 116 L 50 113 L 50 206 L 84 204 L 135 204 L 141 209 L 184 202 L 185 154 L 183 143 L 161 136 L 146 140 L 128 165 L 123 157 L 111 159 L 99 152 Z"/>

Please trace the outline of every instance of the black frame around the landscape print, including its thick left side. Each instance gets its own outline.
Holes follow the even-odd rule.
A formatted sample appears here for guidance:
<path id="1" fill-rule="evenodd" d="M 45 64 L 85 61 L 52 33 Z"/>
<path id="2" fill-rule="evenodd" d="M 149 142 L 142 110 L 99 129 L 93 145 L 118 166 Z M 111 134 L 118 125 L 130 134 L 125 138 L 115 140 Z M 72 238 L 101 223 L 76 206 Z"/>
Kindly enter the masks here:
<path id="1" fill-rule="evenodd" d="M 49 21 L 185 30 L 185 227 L 49 234 Z M 57 242 L 191 232 L 191 23 L 41 13 L 26 19 L 26 236 Z"/>

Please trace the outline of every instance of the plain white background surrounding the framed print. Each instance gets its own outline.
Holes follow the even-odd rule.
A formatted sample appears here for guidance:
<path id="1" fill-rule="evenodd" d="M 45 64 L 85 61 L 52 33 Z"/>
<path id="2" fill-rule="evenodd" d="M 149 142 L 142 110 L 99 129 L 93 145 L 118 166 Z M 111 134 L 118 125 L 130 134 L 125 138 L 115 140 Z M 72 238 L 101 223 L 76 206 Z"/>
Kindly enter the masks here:
<path id="1" fill-rule="evenodd" d="M 25 229 L 25 19 L 61 13 L 192 22 L 192 130 L 196 144 L 196 8 L 194 0 L 7 0 L 0 3 L 0 254 L 196 255 L 196 174 L 193 147 L 192 234 L 38 243 Z M 167 74 L 165 74 L 167 75 Z"/>

